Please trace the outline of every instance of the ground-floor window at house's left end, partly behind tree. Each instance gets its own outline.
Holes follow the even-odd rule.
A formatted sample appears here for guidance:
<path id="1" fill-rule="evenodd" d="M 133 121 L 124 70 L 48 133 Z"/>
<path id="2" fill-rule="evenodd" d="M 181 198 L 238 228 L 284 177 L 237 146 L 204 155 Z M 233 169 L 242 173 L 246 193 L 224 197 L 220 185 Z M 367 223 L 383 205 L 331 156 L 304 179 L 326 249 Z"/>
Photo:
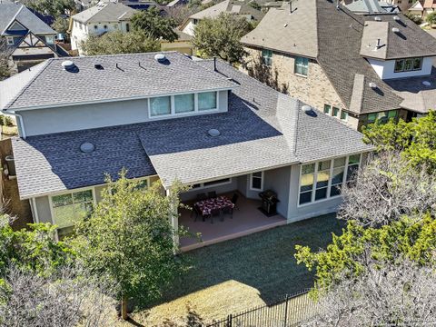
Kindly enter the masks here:
<path id="1" fill-rule="evenodd" d="M 93 210 L 93 191 L 86 190 L 52 196 L 53 223 L 59 229 L 74 226 Z"/>

